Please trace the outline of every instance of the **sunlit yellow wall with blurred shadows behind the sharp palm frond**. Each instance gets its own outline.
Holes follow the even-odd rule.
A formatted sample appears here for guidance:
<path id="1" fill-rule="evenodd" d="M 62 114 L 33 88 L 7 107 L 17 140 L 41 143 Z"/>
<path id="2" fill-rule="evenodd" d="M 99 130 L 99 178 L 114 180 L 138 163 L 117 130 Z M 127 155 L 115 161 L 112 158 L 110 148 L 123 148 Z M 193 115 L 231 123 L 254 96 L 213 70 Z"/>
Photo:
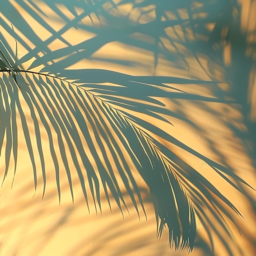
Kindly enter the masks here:
<path id="1" fill-rule="evenodd" d="M 88 1 L 85 4 L 81 2 L 82 0 L 77 3 L 76 1 L 6 1 L 3 4 L 4 7 L 0 10 L 1 41 L 5 47 L 8 43 L 8 47 L 14 52 L 13 58 L 15 59 L 16 41 L 13 38 L 13 35 L 15 35 L 18 42 L 16 64 L 22 64 L 24 70 L 29 69 L 35 72 L 40 71 L 43 67 L 45 67 L 45 70 L 43 70 L 45 72 L 54 74 L 63 72 L 59 76 L 67 75 L 70 81 L 84 80 L 81 83 L 101 83 L 106 75 L 112 81 L 112 83 L 108 81 L 104 84 L 106 88 L 107 85 L 116 86 L 116 90 L 120 94 L 122 92 L 117 86 L 120 87 L 121 85 L 114 84 L 114 82 L 124 79 L 128 83 L 132 76 L 173 76 L 197 80 L 194 83 L 183 81 L 183 84 L 163 82 L 169 86 L 166 86 L 166 88 L 155 84 L 154 81 L 152 81 L 152 85 L 144 83 L 141 84 L 141 87 L 136 84 L 132 88 L 125 89 L 124 95 L 120 96 L 113 92 L 112 96 L 116 101 L 130 99 L 130 101 L 134 101 L 134 104 L 141 103 L 141 105 L 138 105 L 141 108 L 148 108 L 155 112 L 159 111 L 159 116 L 162 119 L 152 113 L 140 113 L 142 110 L 127 110 L 141 120 L 167 132 L 208 159 L 228 167 L 231 173 L 238 175 L 250 186 L 256 188 L 256 151 L 255 148 L 253 149 L 256 145 L 254 143 L 256 117 L 254 106 L 256 95 L 254 86 L 256 81 L 256 2 L 244 0 L 240 1 L 237 6 L 234 4 L 230 7 L 228 1 L 223 1 L 227 4 L 219 1 L 213 6 L 211 4 L 207 5 L 207 2 L 211 3 L 212 1 L 198 1 L 191 5 L 189 4 L 191 1 L 170 1 L 168 3 L 159 1 L 162 9 L 160 7 L 155 9 L 155 4 L 149 4 L 146 1 L 144 1 L 144 6 L 141 4 L 139 8 L 133 6 L 133 1 L 120 4 L 120 1 L 115 0 L 117 8 L 113 7 L 114 3 L 111 1 L 106 1 L 105 4 L 97 1 Z M 88 9 L 85 9 L 85 7 Z M 231 9 L 231 14 L 225 14 L 224 12 L 224 16 L 231 15 L 233 20 L 226 25 L 222 24 L 218 31 L 219 25 L 216 25 L 214 11 L 218 15 L 218 13 L 222 13 L 221 10 L 224 7 Z M 106 13 L 102 11 L 103 9 Z M 161 10 L 165 10 L 165 16 L 161 13 L 161 15 L 157 14 L 157 11 Z M 191 10 L 194 12 L 192 16 Z M 90 16 L 85 15 L 87 12 L 90 13 Z M 76 16 L 74 13 L 76 13 Z M 97 16 L 99 13 L 100 15 Z M 105 16 L 102 13 L 105 13 Z M 159 23 L 153 24 L 151 27 L 143 27 L 143 24 L 146 25 L 157 20 L 159 15 L 162 18 L 162 20 L 158 20 Z M 203 20 L 202 23 L 195 24 L 194 27 L 186 27 L 186 22 L 165 29 L 161 27 L 161 21 L 179 21 L 192 18 L 196 23 L 198 18 L 204 17 L 210 17 L 209 21 Z M 223 16 L 221 17 L 223 18 Z M 13 25 L 14 31 L 10 23 Z M 200 26 L 202 26 L 202 34 L 198 29 Z M 225 37 L 227 27 L 230 31 L 228 40 Z M 197 32 L 193 31 L 193 28 Z M 216 29 L 216 34 L 212 33 L 212 38 L 208 38 L 206 36 L 208 32 L 204 32 L 203 28 L 209 33 Z M 106 32 L 105 36 L 102 34 L 103 29 Z M 97 31 L 100 32 L 97 34 Z M 110 31 L 114 31 L 116 34 L 110 34 Z M 166 34 L 161 34 L 163 32 Z M 125 39 L 123 39 L 119 37 L 119 33 L 127 34 L 127 36 L 124 36 Z M 166 39 L 167 36 L 168 40 Z M 238 36 L 238 39 L 240 36 L 240 39 L 242 37 L 245 40 L 236 40 L 236 36 Z M 61 38 L 66 40 L 66 44 L 61 41 Z M 160 38 L 162 42 L 157 43 L 159 49 L 155 46 L 156 38 Z M 238 42 L 238 45 L 236 45 L 236 42 Z M 239 45 L 241 42 L 243 44 Z M 73 47 L 75 45 L 76 47 Z M 11 50 L 8 47 L 6 49 L 10 53 Z M 58 49 L 65 50 L 58 52 Z M 44 54 L 47 51 L 48 54 Z M 61 54 L 65 55 L 69 51 L 69 55 L 60 57 Z M 154 52 L 157 51 L 159 52 L 156 58 Z M 72 54 L 75 56 L 73 59 L 70 57 Z M 44 55 L 46 57 L 42 57 Z M 19 67 L 21 68 L 21 66 Z M 79 77 L 76 78 L 78 73 L 66 72 L 63 69 L 73 71 L 86 69 L 88 73 L 79 73 Z M 119 79 L 117 73 L 96 72 L 94 77 L 88 69 L 111 70 L 132 76 L 128 78 L 120 76 Z M 84 76 L 80 77 L 80 74 L 84 74 Z M 99 74 L 102 74 L 103 77 L 97 77 Z M 0 189 L 0 255 L 186 255 L 186 250 L 184 252 L 174 252 L 174 250 L 168 248 L 167 227 L 162 238 L 157 240 L 153 196 L 136 170 L 127 148 L 122 145 L 121 139 L 115 135 L 115 129 L 111 127 L 110 132 L 112 132 L 115 141 L 120 146 L 124 159 L 130 166 L 132 175 L 141 192 L 147 218 L 136 197 L 136 191 L 133 190 L 132 193 L 135 194 L 138 204 L 138 217 L 135 203 L 130 199 L 131 192 L 127 191 L 126 185 L 121 181 L 122 175 L 120 175 L 118 166 L 106 143 L 103 143 L 103 146 L 115 177 L 117 177 L 129 213 L 124 205 L 122 205 L 123 213 L 121 213 L 115 202 L 115 196 L 111 194 L 112 211 L 110 211 L 102 184 L 100 184 L 99 189 L 102 214 L 97 203 L 96 213 L 83 166 L 83 154 L 81 154 L 81 151 L 79 152 L 78 141 L 81 140 L 84 154 L 88 157 L 88 161 L 100 180 L 101 170 L 97 170 L 99 167 L 97 161 L 102 162 L 103 166 L 108 169 L 106 155 L 104 158 L 104 153 L 101 153 L 103 146 L 100 146 L 97 140 L 102 139 L 101 135 L 99 138 L 97 137 L 100 130 L 95 128 L 97 123 L 93 121 L 85 121 L 88 126 L 86 132 L 79 124 L 82 124 L 81 120 L 88 120 L 89 117 L 93 119 L 93 115 L 97 115 L 95 110 L 97 103 L 95 102 L 101 102 L 101 100 L 94 99 L 91 94 L 88 94 L 89 96 L 84 94 L 85 99 L 90 102 L 88 106 L 90 106 L 91 112 L 86 112 L 80 103 L 82 97 L 76 92 L 74 85 L 71 85 L 74 91 L 73 94 L 73 92 L 68 91 L 69 85 L 67 83 L 62 85 L 67 88 L 65 90 L 58 87 L 61 82 L 57 81 L 58 86 L 56 88 L 58 90 L 56 90 L 51 88 L 54 83 L 51 78 L 50 81 L 52 82 L 48 81 L 46 85 L 39 86 L 36 82 L 38 76 L 28 74 L 26 80 L 23 81 L 22 75 L 19 74 L 17 78 L 20 89 L 15 88 L 15 83 L 10 76 L 9 81 L 11 82 L 9 84 L 6 82 L 6 87 L 4 87 L 4 82 L 8 80 L 8 76 L 7 72 L 1 74 L 2 106 L 0 121 L 2 127 L 6 126 L 6 129 L 10 132 L 14 127 L 13 120 L 15 119 L 17 130 L 14 129 L 12 132 L 17 132 L 17 137 L 12 140 L 10 139 L 10 133 L 6 132 L 0 156 L 0 177 L 4 180 Z M 25 75 L 23 74 L 23 76 Z M 133 78 L 134 81 L 138 79 L 137 77 Z M 45 77 L 43 80 L 47 81 Z M 28 86 L 26 83 L 31 83 L 31 81 L 32 85 Z M 219 82 L 201 84 L 198 81 Z M 87 86 L 87 89 L 94 87 L 93 85 Z M 189 92 L 191 95 L 202 95 L 204 98 L 198 100 L 198 98 L 192 96 L 193 100 L 174 99 L 174 95 L 173 98 L 170 96 L 173 92 L 171 86 Z M 57 94 L 55 94 L 56 92 Z M 247 92 L 249 92 L 248 95 L 244 96 Z M 99 92 L 93 93 L 95 95 L 100 94 Z M 31 97 L 30 95 L 34 96 Z M 211 102 L 209 97 L 221 98 L 223 102 Z M 89 98 L 92 101 L 89 101 Z M 68 102 L 66 99 L 68 99 Z M 163 103 L 162 106 L 153 103 L 153 99 Z M 234 103 L 234 99 L 236 103 Z M 241 102 L 237 102 L 239 99 Z M 248 106 L 244 100 L 249 103 L 249 110 L 241 107 Z M 20 105 L 16 105 L 16 110 L 12 108 L 8 112 L 6 105 L 13 106 L 13 102 L 16 102 L 16 104 L 18 102 Z M 137 106 L 136 104 L 135 106 Z M 82 115 L 79 114 L 79 111 L 70 110 L 70 106 L 74 105 L 81 111 Z M 112 106 L 115 106 L 114 102 L 112 102 Z M 125 109 L 124 106 L 117 108 Z M 88 107 L 86 110 L 88 110 Z M 178 113 L 180 117 L 184 117 L 186 120 L 165 115 L 164 113 L 168 113 L 169 110 Z M 33 111 L 35 111 L 35 114 L 33 114 Z M 247 116 L 249 117 L 247 118 Z M 163 121 L 164 118 L 170 123 Z M 108 124 L 108 120 L 104 120 Z M 190 122 L 187 120 L 190 120 Z M 27 130 L 24 128 L 25 123 L 27 124 Z M 37 126 L 35 126 L 35 123 Z M 75 126 L 75 128 L 73 127 L 73 133 L 68 129 L 68 125 L 72 123 Z M 140 124 L 137 127 L 141 128 Z M 227 216 L 223 217 L 227 220 L 231 229 L 231 238 L 227 237 L 218 221 L 212 219 L 213 227 L 210 227 L 203 224 L 200 218 L 196 218 L 198 233 L 191 254 L 195 256 L 255 255 L 256 192 L 241 184 L 237 178 L 232 179 L 229 175 L 226 175 L 235 184 L 238 184 L 239 190 L 244 191 L 245 195 L 243 195 L 220 177 L 203 159 L 193 155 L 193 153 L 191 154 L 191 152 L 188 153 L 184 148 L 181 149 L 179 146 L 175 146 L 164 137 L 157 136 L 148 127 L 142 127 L 141 129 L 151 132 L 150 135 L 153 135 L 159 143 L 195 168 L 202 177 L 207 179 L 222 195 L 230 200 L 243 216 L 243 219 L 239 218 L 236 213 L 229 209 L 240 233 L 237 227 L 230 220 L 227 220 Z M 52 138 L 49 138 L 49 133 Z M 89 137 L 95 146 L 95 152 L 99 154 L 99 158 L 95 157 L 94 151 L 91 149 L 92 145 L 88 142 Z M 70 138 L 70 142 L 67 138 Z M 128 138 L 128 144 L 129 139 L 131 138 Z M 135 139 L 135 137 L 132 137 L 132 139 Z M 60 140 L 63 141 L 63 145 Z M 18 144 L 12 144 L 13 141 L 17 141 Z M 43 160 L 40 158 L 42 154 L 38 150 L 38 141 L 42 143 Z M 49 141 L 52 141 L 56 157 L 53 156 L 50 150 Z M 31 150 L 28 149 L 30 142 Z M 9 153 L 10 145 L 18 149 L 14 180 L 15 150 L 11 150 Z M 65 153 L 65 157 L 63 153 Z M 116 154 L 118 155 L 119 152 L 116 152 Z M 143 152 L 141 154 L 143 155 Z M 77 164 L 74 161 L 74 155 L 77 157 Z M 10 162 L 6 168 L 9 157 Z M 139 158 L 140 154 L 137 157 Z M 31 164 L 31 158 L 34 159 L 34 167 Z M 65 159 L 67 162 L 65 162 Z M 59 164 L 60 203 L 54 161 L 55 164 Z M 42 163 L 45 164 L 46 182 L 43 180 L 41 171 Z M 70 181 L 66 173 L 67 166 L 72 180 L 74 204 L 70 193 Z M 81 189 L 81 177 L 79 177 L 77 169 L 81 169 L 85 178 L 90 213 Z M 4 172 L 7 172 L 6 177 Z M 37 174 L 36 190 L 33 172 Z M 196 177 L 194 178 L 196 179 Z M 130 182 L 128 183 L 132 187 Z M 188 182 L 193 184 L 193 180 L 188 180 Z M 42 199 L 44 184 L 45 195 Z M 186 191 L 186 193 L 188 196 L 190 195 L 190 191 Z M 213 195 L 213 197 L 216 197 L 216 195 Z M 209 210 L 204 209 L 206 216 L 211 219 L 212 215 Z M 219 235 L 213 231 L 214 228 L 220 232 Z M 208 248 L 211 242 L 206 229 L 209 230 L 213 239 L 213 253 Z M 220 236 L 222 236 L 222 240 Z M 228 251 L 227 247 L 231 251 Z"/>

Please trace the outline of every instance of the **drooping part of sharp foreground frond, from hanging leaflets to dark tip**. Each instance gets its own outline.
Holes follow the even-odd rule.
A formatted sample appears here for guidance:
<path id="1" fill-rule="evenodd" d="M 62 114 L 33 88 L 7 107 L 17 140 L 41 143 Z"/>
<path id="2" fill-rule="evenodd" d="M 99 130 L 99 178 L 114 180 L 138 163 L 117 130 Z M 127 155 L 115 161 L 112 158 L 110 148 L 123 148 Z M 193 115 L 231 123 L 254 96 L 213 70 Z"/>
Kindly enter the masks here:
<path id="1" fill-rule="evenodd" d="M 21 76 L 21 74 L 18 75 Z M 136 180 L 132 175 L 127 158 L 122 153 L 126 152 L 150 189 L 156 213 L 157 236 L 161 237 L 164 226 L 167 224 L 169 229 L 170 247 L 173 247 L 174 245 L 175 249 L 184 249 L 185 247 L 189 247 L 189 251 L 193 249 L 193 241 L 195 240 L 196 231 L 195 214 L 199 216 L 199 218 L 207 218 L 209 223 L 212 223 L 204 214 L 204 207 L 210 210 L 213 218 L 215 218 L 222 228 L 225 229 L 227 234 L 231 236 L 228 225 L 222 215 L 224 214 L 229 220 L 234 222 L 234 218 L 229 213 L 229 210 L 232 209 L 240 215 L 236 207 L 195 169 L 186 164 L 186 162 L 175 155 L 169 148 L 166 148 L 166 146 L 149 135 L 147 130 L 153 132 L 157 136 L 162 135 L 162 138 L 165 140 L 172 142 L 196 157 L 200 157 L 236 189 L 238 189 L 238 187 L 234 182 L 229 180 L 222 173 L 243 182 L 238 176 L 231 173 L 230 170 L 224 166 L 221 166 L 195 152 L 191 148 L 188 148 L 186 145 L 180 143 L 171 137 L 171 135 L 168 135 L 153 124 L 149 124 L 142 119 L 132 117 L 128 113 L 124 113 L 121 110 L 114 108 L 108 101 L 104 101 L 101 97 L 92 94 L 90 90 L 83 90 L 74 84 L 54 77 L 48 77 L 43 74 L 36 75 L 27 72 L 25 77 L 30 87 L 27 87 L 26 90 L 22 88 L 20 92 L 22 97 L 24 97 L 27 106 L 29 106 L 31 117 L 34 121 L 34 129 L 44 181 L 43 195 L 46 186 L 45 160 L 40 143 L 40 128 L 35 115 L 35 110 L 38 112 L 38 116 L 47 131 L 49 147 L 56 171 L 56 186 L 59 200 L 61 199 L 60 167 L 56 157 L 56 147 L 54 147 L 52 141 L 52 130 L 49 127 L 49 122 L 58 136 L 58 148 L 60 149 L 61 159 L 67 174 L 73 201 L 72 172 L 67 161 L 63 139 L 67 142 L 68 150 L 71 152 L 72 162 L 76 166 L 85 200 L 88 204 L 88 193 L 90 193 L 94 200 L 96 211 L 96 204 L 98 204 L 101 211 L 100 182 L 103 185 L 110 208 L 111 204 L 108 191 L 114 196 L 121 211 L 121 203 L 127 208 L 116 179 L 117 173 L 114 172 L 114 168 L 118 171 L 137 213 L 139 214 L 139 209 L 134 197 L 134 192 L 139 198 L 140 205 L 144 210 L 143 201 L 139 188 L 136 185 Z M 31 146 L 27 121 L 20 104 L 17 85 L 10 74 L 9 77 L 5 74 L 3 75 L 1 85 L 2 88 L 9 88 L 9 93 L 12 93 L 11 96 L 13 96 L 11 97 L 12 101 L 8 107 L 7 92 L 2 89 L 3 96 L 5 97 L 6 115 L 10 115 L 13 112 L 15 113 L 13 110 L 10 111 L 11 106 L 15 109 L 15 105 L 20 114 L 22 130 L 24 132 L 34 171 L 34 184 L 36 189 L 37 171 L 34 150 Z M 12 89 L 10 90 L 10 88 Z M 13 102 L 14 99 L 16 99 L 15 102 Z M 38 102 L 40 102 L 40 106 Z M 149 115 L 148 112 L 146 114 Z M 11 116 L 9 119 L 12 120 L 14 117 Z M 49 121 L 47 121 L 45 117 L 47 117 Z M 80 136 L 78 136 L 79 131 L 76 130 L 74 119 L 76 120 L 76 124 L 81 128 L 82 134 Z M 10 122 L 9 126 L 11 126 Z M 1 130 L 3 129 L 4 128 L 1 128 Z M 8 171 L 11 148 L 13 148 L 15 162 L 17 161 L 16 133 L 17 130 L 15 130 L 15 127 L 14 130 L 12 130 L 13 135 L 6 133 L 6 171 L 4 173 L 4 178 Z M 113 134 L 115 136 L 113 136 Z M 14 138 L 13 142 L 10 139 L 12 137 Z M 88 148 L 85 149 L 82 139 L 86 141 Z M 122 145 L 122 147 L 120 148 L 119 145 Z M 108 151 L 104 150 L 106 147 L 108 148 Z M 92 159 L 88 159 L 88 150 L 90 150 L 96 166 L 92 165 Z M 78 152 L 79 157 L 82 160 L 82 168 L 79 164 L 78 156 L 74 152 Z M 110 161 L 109 159 L 113 159 L 114 161 Z M 86 181 L 84 177 L 85 173 L 83 173 L 84 169 L 86 170 L 87 175 Z M 100 178 L 98 178 L 97 173 Z M 89 184 L 89 191 L 86 188 L 86 182 Z M 249 184 L 247 185 L 249 186 Z M 222 204 L 225 204 L 225 207 L 222 206 Z M 146 215 L 145 210 L 144 214 Z M 158 222 L 159 219 L 161 220 L 160 224 Z M 214 225 L 212 225 L 212 228 L 216 234 L 222 238 L 218 233 L 218 230 L 214 228 Z M 225 243 L 224 238 L 222 238 L 222 242 Z M 228 245 L 227 248 L 229 248 Z"/>

